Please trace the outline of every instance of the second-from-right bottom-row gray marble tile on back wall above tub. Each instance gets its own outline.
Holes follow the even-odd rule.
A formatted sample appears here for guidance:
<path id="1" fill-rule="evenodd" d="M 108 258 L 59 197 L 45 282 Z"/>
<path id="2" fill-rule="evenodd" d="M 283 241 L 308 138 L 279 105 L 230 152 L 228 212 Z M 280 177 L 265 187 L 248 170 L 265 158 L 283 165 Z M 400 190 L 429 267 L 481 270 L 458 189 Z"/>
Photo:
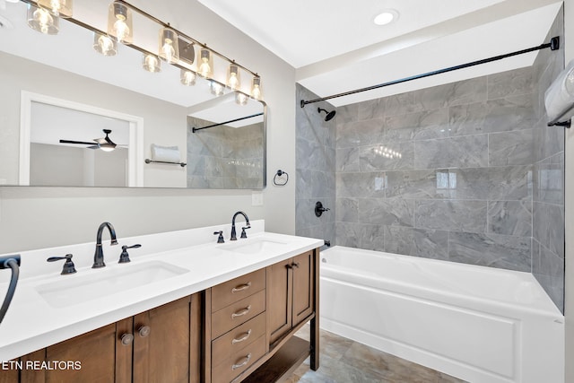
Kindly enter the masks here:
<path id="1" fill-rule="evenodd" d="M 386 226 L 385 251 L 448 260 L 448 231 Z"/>

